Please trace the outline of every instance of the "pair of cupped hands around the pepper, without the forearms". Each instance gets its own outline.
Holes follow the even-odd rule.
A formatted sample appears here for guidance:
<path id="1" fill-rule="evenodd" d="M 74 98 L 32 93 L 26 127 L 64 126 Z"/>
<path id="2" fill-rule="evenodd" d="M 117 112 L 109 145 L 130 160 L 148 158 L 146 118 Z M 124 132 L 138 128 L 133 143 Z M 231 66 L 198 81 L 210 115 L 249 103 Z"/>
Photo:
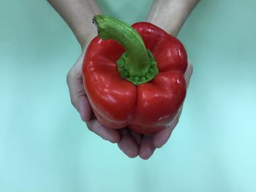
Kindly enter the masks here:
<path id="1" fill-rule="evenodd" d="M 86 122 L 89 130 L 99 135 L 99 137 L 102 137 L 102 139 L 117 143 L 118 147 L 130 158 L 135 158 L 139 155 L 140 158 L 148 159 L 154 153 L 156 148 L 165 145 L 167 140 L 170 138 L 170 134 L 178 123 L 182 107 L 178 110 L 176 118 L 174 118 L 172 123 L 170 123 L 167 128 L 157 132 L 156 134 L 143 135 L 130 131 L 128 128 L 115 130 L 102 126 L 91 110 L 91 106 L 86 97 L 86 91 L 83 87 L 81 68 L 83 64 L 83 55 L 90 40 L 85 43 L 83 53 L 67 74 L 67 85 L 69 87 L 71 102 L 80 113 L 82 120 Z M 189 85 L 189 80 L 192 74 L 192 64 L 190 61 L 188 63 L 187 71 L 185 72 L 187 86 Z"/>

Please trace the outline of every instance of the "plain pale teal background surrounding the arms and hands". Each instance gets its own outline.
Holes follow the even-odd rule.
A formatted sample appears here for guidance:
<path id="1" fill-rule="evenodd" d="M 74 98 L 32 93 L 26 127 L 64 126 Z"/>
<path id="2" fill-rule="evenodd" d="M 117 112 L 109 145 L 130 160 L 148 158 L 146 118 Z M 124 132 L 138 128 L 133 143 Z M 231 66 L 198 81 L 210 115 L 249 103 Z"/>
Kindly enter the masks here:
<path id="1" fill-rule="evenodd" d="M 151 2 L 99 4 L 134 23 Z M 178 35 L 194 64 L 180 122 L 143 161 L 92 134 L 70 104 L 80 47 L 52 7 L 0 0 L 0 191 L 256 191 L 255 9 L 197 5 Z"/>

